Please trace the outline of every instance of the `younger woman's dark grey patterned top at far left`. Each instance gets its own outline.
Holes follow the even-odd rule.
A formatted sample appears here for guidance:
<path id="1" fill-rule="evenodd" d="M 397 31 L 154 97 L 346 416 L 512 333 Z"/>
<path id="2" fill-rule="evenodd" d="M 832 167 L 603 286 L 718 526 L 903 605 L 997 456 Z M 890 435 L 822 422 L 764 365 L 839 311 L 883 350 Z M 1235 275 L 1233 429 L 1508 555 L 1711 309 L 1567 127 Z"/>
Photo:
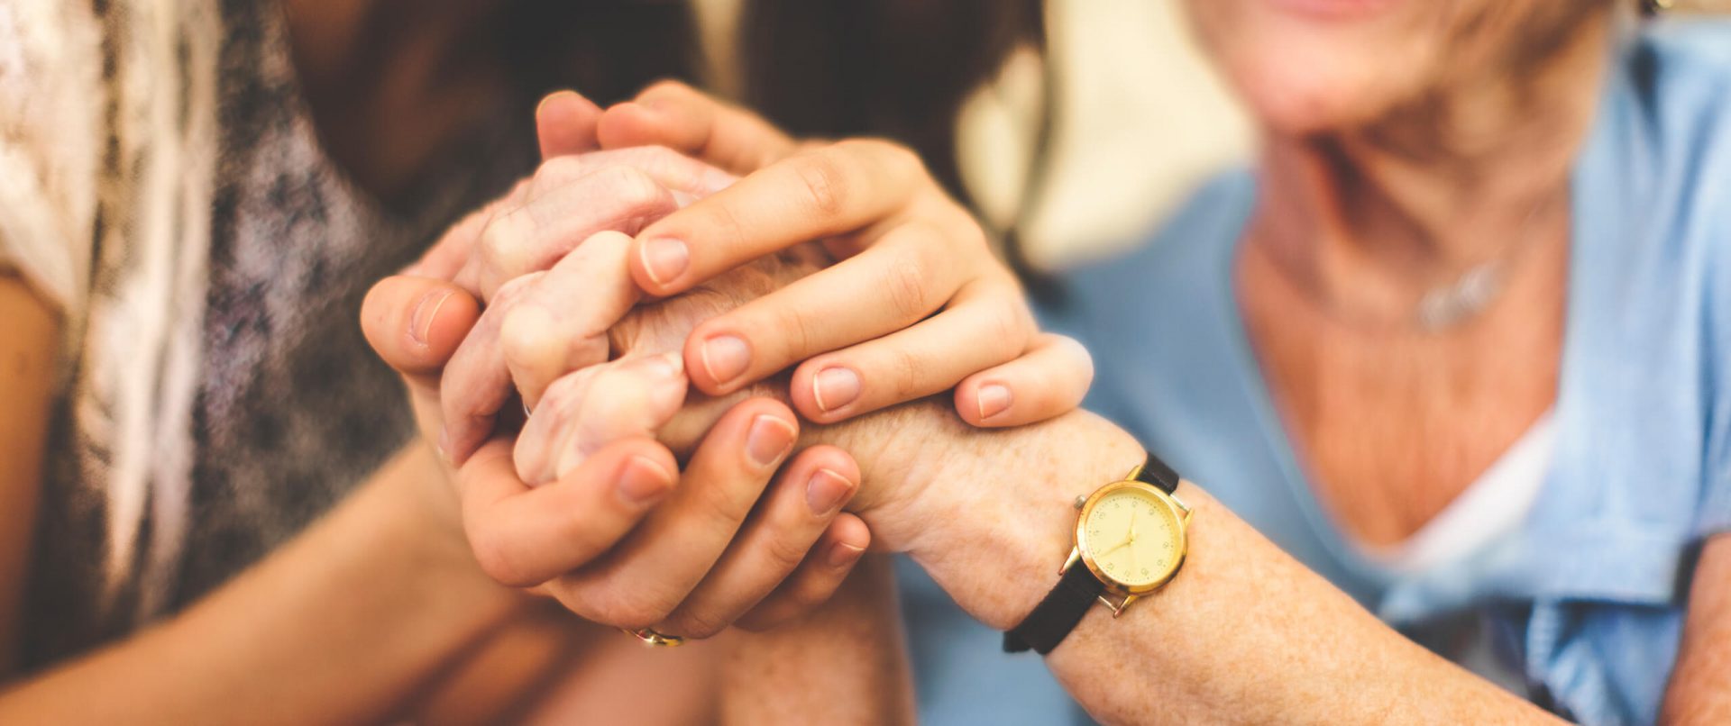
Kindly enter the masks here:
<path id="1" fill-rule="evenodd" d="M 114 583 L 107 491 L 113 430 L 104 415 L 109 379 L 92 341 L 125 337 L 128 290 L 135 290 L 145 233 L 137 213 L 149 197 L 149 130 L 128 130 L 123 104 L 104 109 L 104 194 L 90 242 L 92 304 L 73 322 L 80 335 L 66 358 L 28 588 L 26 660 L 48 664 L 123 636 L 185 607 L 293 538 L 327 512 L 412 436 L 402 387 L 358 330 L 360 301 L 372 282 L 410 263 L 450 221 L 504 190 L 535 162 L 531 99 L 516 95 L 441 161 L 412 195 L 414 209 L 389 211 L 360 192 L 322 152 L 291 62 L 286 22 L 270 0 L 189 2 L 164 10 L 137 2 L 99 2 L 104 76 L 113 90 L 137 57 L 128 43 L 149 12 L 182 12 L 173 57 L 182 116 L 209 112 L 215 159 L 208 201 L 182 197 L 171 237 L 201 239 L 208 264 L 199 290 L 170 306 L 197 322 L 196 361 L 177 377 L 156 361 L 151 396 L 173 399 L 190 380 L 183 436 L 158 436 L 147 462 L 149 505 L 132 532 L 130 567 Z M 0 19 L 3 21 L 3 19 Z M 216 33 L 203 38 L 199 33 Z M 199 67 L 201 43 L 215 69 Z M 192 48 L 192 50 L 189 50 Z M 190 90 L 213 74 L 213 107 Z M 173 85 L 158 78 L 156 83 Z M 125 99 L 126 93 L 111 93 Z M 192 121 L 182 118 L 182 126 Z M 137 149 L 137 157 L 130 152 Z M 130 199 L 126 204 L 114 199 Z M 199 211 L 208 218 L 197 218 Z M 185 254 L 182 254 L 185 256 Z M 178 266 L 196 270 L 196 266 Z M 166 275 L 166 273 L 164 273 Z M 178 283 L 178 280 L 173 280 Z M 118 315 L 116 315 L 118 311 Z M 190 318 L 187 318 L 190 316 Z M 144 356 L 166 351 L 144 351 Z M 137 363 L 137 361 L 133 361 Z M 123 363 L 121 368 L 133 363 Z M 164 406 L 158 406 L 164 408 Z M 173 458 L 185 458 L 175 467 Z M 164 463 L 166 462 L 166 463 Z M 180 472 L 180 474 L 175 474 Z M 163 505 L 168 501 L 168 505 Z M 175 536 L 163 536 L 175 527 Z M 123 564 L 125 565 L 125 564 Z"/>

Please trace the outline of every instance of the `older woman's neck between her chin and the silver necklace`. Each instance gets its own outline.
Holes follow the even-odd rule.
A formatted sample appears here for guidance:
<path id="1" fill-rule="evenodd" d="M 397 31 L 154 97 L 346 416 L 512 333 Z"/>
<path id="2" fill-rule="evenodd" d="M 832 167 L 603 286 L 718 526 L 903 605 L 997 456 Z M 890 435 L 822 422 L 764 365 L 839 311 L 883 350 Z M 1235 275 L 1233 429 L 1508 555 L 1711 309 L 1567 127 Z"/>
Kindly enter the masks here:
<path id="1" fill-rule="evenodd" d="M 1345 258 L 1322 266 L 1421 282 L 1518 237 L 1567 230 L 1568 175 L 1594 118 L 1608 26 L 1584 21 L 1525 69 L 1487 64 L 1494 71 L 1359 128 L 1269 138 L 1255 233 L 1284 256 Z"/>

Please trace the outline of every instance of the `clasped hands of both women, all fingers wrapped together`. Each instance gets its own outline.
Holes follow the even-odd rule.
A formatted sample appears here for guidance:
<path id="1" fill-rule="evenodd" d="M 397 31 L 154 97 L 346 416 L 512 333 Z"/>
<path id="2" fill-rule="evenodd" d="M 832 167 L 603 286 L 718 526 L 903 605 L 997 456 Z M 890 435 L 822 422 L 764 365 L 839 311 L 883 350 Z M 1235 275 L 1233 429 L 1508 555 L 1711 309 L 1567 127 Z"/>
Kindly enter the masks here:
<path id="1" fill-rule="evenodd" d="M 956 417 L 1087 391 L 902 147 L 796 143 L 677 83 L 556 93 L 537 133 L 537 173 L 362 311 L 504 584 L 628 629 L 772 627 L 931 524 L 909 467 Z M 952 389 L 954 415 L 923 401 Z"/>

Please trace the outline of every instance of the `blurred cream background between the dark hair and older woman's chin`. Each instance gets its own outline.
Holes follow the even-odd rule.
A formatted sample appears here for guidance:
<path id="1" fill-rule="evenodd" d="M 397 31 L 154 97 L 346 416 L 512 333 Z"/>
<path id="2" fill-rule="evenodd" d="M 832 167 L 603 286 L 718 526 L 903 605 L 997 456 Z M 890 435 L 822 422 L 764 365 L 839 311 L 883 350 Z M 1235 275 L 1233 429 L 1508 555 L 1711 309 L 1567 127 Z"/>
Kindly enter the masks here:
<path id="1" fill-rule="evenodd" d="M 706 62 L 729 69 L 739 0 L 692 2 Z M 1021 213 L 1030 261 L 1051 268 L 1132 244 L 1203 178 L 1243 162 L 1252 131 L 1193 45 L 1177 0 L 1046 7 L 1056 109 L 1035 199 L 1025 199 L 1025 180 L 1046 73 L 1032 52 L 964 105 L 957 157 L 981 213 L 999 228 Z M 734 90 L 736 73 L 713 76 L 713 86 Z"/>

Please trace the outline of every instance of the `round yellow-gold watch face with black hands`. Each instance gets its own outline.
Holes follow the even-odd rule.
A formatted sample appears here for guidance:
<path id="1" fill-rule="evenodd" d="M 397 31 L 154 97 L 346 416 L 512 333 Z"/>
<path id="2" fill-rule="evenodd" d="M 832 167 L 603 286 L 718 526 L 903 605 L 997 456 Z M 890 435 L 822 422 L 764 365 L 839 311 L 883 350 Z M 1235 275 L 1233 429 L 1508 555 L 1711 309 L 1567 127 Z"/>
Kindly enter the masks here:
<path id="1" fill-rule="evenodd" d="M 1097 494 L 1082 510 L 1077 539 L 1094 574 L 1130 589 L 1163 583 L 1184 558 L 1179 513 L 1142 486 Z"/>

